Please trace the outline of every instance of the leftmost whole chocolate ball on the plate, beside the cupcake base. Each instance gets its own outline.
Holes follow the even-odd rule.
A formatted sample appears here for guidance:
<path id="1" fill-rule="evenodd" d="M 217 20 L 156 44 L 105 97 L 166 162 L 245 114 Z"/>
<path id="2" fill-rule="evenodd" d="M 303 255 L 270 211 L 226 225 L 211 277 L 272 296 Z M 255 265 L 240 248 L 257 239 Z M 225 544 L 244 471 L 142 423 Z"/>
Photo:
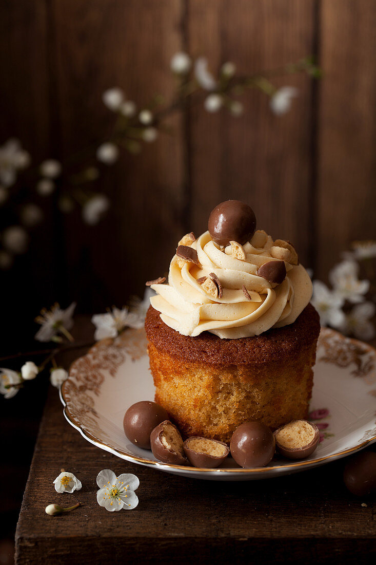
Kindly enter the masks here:
<path id="1" fill-rule="evenodd" d="M 150 434 L 168 414 L 156 402 L 142 400 L 128 408 L 124 414 L 124 433 L 132 444 L 143 449 L 150 449 Z"/>

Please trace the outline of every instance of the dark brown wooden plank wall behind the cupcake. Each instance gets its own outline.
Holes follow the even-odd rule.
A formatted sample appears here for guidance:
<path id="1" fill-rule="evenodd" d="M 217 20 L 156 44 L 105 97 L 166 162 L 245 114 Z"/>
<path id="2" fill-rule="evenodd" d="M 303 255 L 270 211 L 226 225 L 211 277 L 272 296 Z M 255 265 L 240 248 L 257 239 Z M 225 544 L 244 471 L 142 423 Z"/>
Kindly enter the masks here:
<path id="1" fill-rule="evenodd" d="M 96 188 L 112 207 L 98 227 L 78 212 L 57 214 L 56 196 L 34 197 L 30 187 L 46 219 L 1 275 L 2 354 L 36 346 L 42 306 L 76 299 L 88 314 L 142 295 L 181 235 L 204 231 L 227 198 L 249 202 L 259 227 L 294 242 L 323 279 L 350 241 L 376 238 L 375 29 L 371 0 L 2 0 L 0 144 L 19 137 L 36 164 L 106 136 L 113 114 L 102 93 L 111 86 L 139 107 L 156 92 L 172 97 L 179 50 L 206 55 L 213 71 L 232 60 L 254 73 L 307 55 L 323 71 L 320 81 L 278 80 L 300 91 L 285 116 L 259 92 L 242 97 L 241 118 L 202 105 L 173 116 L 172 136 L 106 169 Z M 2 510 L 14 516 L 45 395 L 38 386 L 34 403 L 25 394 L 2 403 L 7 473 L 20 485 Z"/>

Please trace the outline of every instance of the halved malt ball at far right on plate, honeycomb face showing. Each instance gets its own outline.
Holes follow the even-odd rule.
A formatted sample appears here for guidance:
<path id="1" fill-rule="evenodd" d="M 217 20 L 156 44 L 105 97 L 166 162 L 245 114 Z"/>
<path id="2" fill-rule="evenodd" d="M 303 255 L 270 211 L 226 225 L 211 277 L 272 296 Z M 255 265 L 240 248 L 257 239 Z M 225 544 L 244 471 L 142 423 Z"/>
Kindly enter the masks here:
<path id="1" fill-rule="evenodd" d="M 307 420 L 294 420 L 274 432 L 277 450 L 288 459 L 305 459 L 320 441 L 316 425 Z"/>

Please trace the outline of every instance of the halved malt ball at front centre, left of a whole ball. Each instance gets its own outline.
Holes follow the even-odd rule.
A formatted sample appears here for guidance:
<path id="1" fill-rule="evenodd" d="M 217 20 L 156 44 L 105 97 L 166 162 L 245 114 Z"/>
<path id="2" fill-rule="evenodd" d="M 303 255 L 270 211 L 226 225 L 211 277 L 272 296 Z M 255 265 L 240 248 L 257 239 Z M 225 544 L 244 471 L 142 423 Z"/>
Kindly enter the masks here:
<path id="1" fill-rule="evenodd" d="M 194 467 L 219 467 L 230 449 L 222 441 L 208 440 L 206 437 L 189 437 L 183 444 L 184 453 Z"/>

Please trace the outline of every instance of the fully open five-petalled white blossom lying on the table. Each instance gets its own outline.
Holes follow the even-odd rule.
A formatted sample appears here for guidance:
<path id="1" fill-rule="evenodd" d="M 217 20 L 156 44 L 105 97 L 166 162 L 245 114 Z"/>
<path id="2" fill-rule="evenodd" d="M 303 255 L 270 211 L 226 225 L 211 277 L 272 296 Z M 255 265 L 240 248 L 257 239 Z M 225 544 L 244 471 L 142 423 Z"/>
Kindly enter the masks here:
<path id="1" fill-rule="evenodd" d="M 138 489 L 138 477 L 132 473 L 123 473 L 117 477 L 110 469 L 103 469 L 97 476 L 97 502 L 110 512 L 121 509 L 132 510 L 138 505 L 135 490 Z"/>

